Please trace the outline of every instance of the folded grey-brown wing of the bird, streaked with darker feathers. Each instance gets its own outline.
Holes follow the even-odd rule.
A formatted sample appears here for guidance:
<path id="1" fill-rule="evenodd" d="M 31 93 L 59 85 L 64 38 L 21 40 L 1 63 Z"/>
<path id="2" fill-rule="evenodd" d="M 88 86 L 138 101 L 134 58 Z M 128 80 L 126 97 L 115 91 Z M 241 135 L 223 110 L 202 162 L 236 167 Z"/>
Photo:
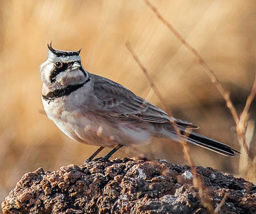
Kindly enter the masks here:
<path id="1" fill-rule="evenodd" d="M 109 111 L 112 116 L 130 117 L 152 123 L 174 121 L 185 128 L 198 128 L 187 121 L 169 117 L 162 109 L 112 80 L 98 75 L 94 75 L 94 77 L 95 96 L 100 101 L 101 108 Z"/>

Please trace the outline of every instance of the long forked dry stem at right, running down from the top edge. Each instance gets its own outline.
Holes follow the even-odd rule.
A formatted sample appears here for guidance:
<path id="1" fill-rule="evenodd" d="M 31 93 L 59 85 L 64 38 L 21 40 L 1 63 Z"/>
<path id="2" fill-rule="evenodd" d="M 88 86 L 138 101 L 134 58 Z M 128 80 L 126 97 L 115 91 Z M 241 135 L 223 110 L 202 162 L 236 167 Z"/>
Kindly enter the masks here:
<path id="1" fill-rule="evenodd" d="M 244 111 L 241 114 L 241 116 L 239 117 L 237 114 L 237 111 L 232 103 L 232 101 L 230 100 L 230 95 L 229 92 L 225 91 L 225 89 L 222 87 L 222 85 L 220 84 L 217 76 L 215 75 L 215 73 L 213 72 L 212 69 L 210 69 L 210 67 L 207 65 L 207 63 L 203 60 L 203 58 L 199 55 L 199 53 L 193 49 L 186 41 L 185 39 L 182 38 L 182 36 L 173 28 L 173 26 L 166 20 L 163 18 L 163 16 L 158 12 L 158 10 L 156 9 L 156 7 L 154 7 L 148 0 L 144 0 L 144 2 L 150 7 L 150 9 L 156 14 L 156 16 L 159 18 L 159 20 L 166 25 L 170 31 L 178 38 L 178 40 L 181 41 L 181 43 L 191 52 L 195 55 L 196 59 L 198 60 L 199 64 L 201 64 L 204 68 L 204 70 L 206 71 L 206 73 L 209 75 L 209 77 L 211 78 L 211 81 L 213 82 L 213 84 L 217 87 L 218 91 L 220 92 L 220 94 L 222 95 L 222 97 L 224 98 L 224 100 L 226 101 L 226 106 L 228 107 L 228 109 L 230 110 L 235 123 L 236 123 L 236 131 L 237 131 L 237 135 L 238 135 L 238 139 L 239 139 L 239 143 L 241 146 L 244 147 L 251 163 L 254 162 L 255 156 L 250 152 L 248 146 L 246 145 L 246 141 L 245 141 L 245 132 L 246 132 L 246 127 L 247 127 L 247 119 L 248 119 L 248 110 L 249 107 L 251 105 L 251 102 L 255 96 L 256 93 L 256 77 L 254 80 L 254 84 L 251 90 L 250 95 L 247 98 L 246 101 L 246 105 L 244 107 Z M 255 170 L 255 167 L 253 167 L 253 169 Z"/>

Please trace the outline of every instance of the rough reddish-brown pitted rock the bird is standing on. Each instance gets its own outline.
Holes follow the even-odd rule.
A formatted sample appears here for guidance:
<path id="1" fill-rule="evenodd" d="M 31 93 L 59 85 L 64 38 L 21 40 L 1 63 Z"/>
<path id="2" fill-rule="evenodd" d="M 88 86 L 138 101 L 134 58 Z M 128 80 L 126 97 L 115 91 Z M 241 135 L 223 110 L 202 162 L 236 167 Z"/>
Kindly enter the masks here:
<path id="1" fill-rule="evenodd" d="M 196 167 L 219 213 L 256 213 L 256 186 L 210 167 Z M 38 168 L 23 175 L 3 213 L 208 213 L 190 167 L 146 158 Z"/>

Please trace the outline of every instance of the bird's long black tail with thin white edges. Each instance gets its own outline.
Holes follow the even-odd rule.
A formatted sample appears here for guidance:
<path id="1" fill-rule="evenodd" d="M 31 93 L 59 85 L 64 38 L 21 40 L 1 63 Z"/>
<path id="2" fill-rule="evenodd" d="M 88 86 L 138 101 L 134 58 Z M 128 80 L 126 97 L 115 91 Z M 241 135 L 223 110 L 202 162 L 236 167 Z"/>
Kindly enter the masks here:
<path id="1" fill-rule="evenodd" d="M 206 148 L 208 150 L 214 151 L 216 153 L 219 153 L 224 156 L 238 156 L 235 153 L 239 153 L 238 151 L 234 150 L 230 146 L 227 146 L 226 144 L 220 143 L 218 141 L 212 140 L 210 138 L 207 138 L 203 135 L 199 135 L 194 132 L 188 132 L 183 131 L 182 137 L 185 141 L 190 142 L 192 144 L 195 144 L 197 146 Z"/>

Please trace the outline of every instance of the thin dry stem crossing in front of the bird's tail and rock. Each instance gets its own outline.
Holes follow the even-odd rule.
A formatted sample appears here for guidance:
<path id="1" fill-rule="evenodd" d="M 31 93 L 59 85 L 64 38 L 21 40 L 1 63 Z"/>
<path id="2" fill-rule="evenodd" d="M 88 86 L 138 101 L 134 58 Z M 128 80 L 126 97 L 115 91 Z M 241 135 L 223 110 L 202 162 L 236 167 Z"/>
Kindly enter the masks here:
<path id="1" fill-rule="evenodd" d="M 149 76 L 148 71 L 143 66 L 143 64 L 139 60 L 138 56 L 136 55 L 136 53 L 133 51 L 129 41 L 126 41 L 125 45 L 126 45 L 127 49 L 130 51 L 130 53 L 132 54 L 132 56 L 135 59 L 135 61 L 138 63 L 138 65 L 142 69 L 142 71 L 144 72 L 145 76 L 147 77 L 147 79 L 148 79 L 148 81 L 150 83 L 150 86 L 152 87 L 152 89 L 156 93 L 156 95 L 159 98 L 160 102 L 163 104 L 166 112 L 171 117 L 171 113 L 168 111 L 168 108 L 167 108 L 167 105 L 164 102 L 164 99 L 162 98 L 160 92 L 158 91 L 157 87 L 155 86 L 154 82 L 152 81 L 151 77 Z M 200 178 L 199 174 L 197 174 L 194 161 L 193 161 L 193 159 L 192 159 L 192 157 L 190 155 L 189 148 L 187 147 L 187 143 L 181 137 L 180 130 L 178 129 L 177 124 L 174 121 L 171 121 L 171 123 L 172 123 L 172 125 L 173 125 L 173 127 L 175 129 L 175 132 L 179 136 L 179 140 L 180 140 L 180 143 L 182 145 L 182 151 L 184 153 L 185 159 L 188 161 L 189 165 L 191 166 L 191 172 L 193 174 L 193 185 L 194 185 L 195 188 L 198 189 L 200 201 L 203 204 L 203 206 L 210 211 L 210 213 L 213 213 L 213 211 L 214 211 L 213 205 L 210 202 L 209 197 L 207 197 L 207 189 L 203 188 L 201 178 Z"/>

